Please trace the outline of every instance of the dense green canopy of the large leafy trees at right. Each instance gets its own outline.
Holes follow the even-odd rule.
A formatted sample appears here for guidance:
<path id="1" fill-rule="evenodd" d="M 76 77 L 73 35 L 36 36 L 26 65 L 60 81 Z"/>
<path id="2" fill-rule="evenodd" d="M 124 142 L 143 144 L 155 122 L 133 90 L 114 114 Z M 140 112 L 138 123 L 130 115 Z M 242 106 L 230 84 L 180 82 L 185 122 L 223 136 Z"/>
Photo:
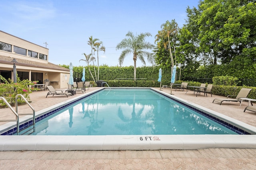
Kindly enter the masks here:
<path id="1" fill-rule="evenodd" d="M 200 0 L 197 8 L 188 7 L 186 12 L 186 24 L 178 29 L 175 44 L 184 74 L 192 76 L 207 67 L 211 77 L 256 78 L 254 0 Z M 171 65 L 163 50 L 165 42 L 158 41 L 156 63 Z"/>

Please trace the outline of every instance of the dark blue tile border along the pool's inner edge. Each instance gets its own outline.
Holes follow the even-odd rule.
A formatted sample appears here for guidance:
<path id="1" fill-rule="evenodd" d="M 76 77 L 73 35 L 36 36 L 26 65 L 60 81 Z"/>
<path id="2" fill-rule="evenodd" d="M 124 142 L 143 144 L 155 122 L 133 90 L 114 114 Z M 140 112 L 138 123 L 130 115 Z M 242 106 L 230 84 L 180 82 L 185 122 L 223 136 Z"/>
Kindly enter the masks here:
<path id="1" fill-rule="evenodd" d="M 129 89 L 132 89 L 132 88 L 129 88 Z M 135 89 L 138 89 L 138 88 L 135 88 Z M 140 88 L 140 89 L 143 89 L 143 88 Z M 154 90 L 154 89 L 149 89 L 149 88 L 144 88 L 144 89 L 153 90 L 154 92 L 157 92 L 157 91 Z M 87 96 L 83 96 L 83 97 L 79 98 L 78 100 L 74 100 L 74 101 L 72 101 L 72 102 L 70 102 L 70 103 L 68 103 L 68 104 L 65 104 L 64 106 L 61 106 L 61 107 L 56 108 L 56 109 L 54 109 L 54 110 L 51 110 L 51 111 L 49 111 L 48 113 L 45 113 L 45 114 L 43 114 L 43 115 L 40 115 L 40 116 L 38 116 L 38 117 L 35 118 L 35 121 L 36 121 L 36 122 L 41 121 L 42 119 L 45 119 L 46 117 L 49 117 L 50 115 L 53 115 L 54 113 L 56 113 L 56 112 L 58 112 L 58 111 L 60 111 L 60 110 L 62 110 L 62 109 L 65 109 L 66 107 L 69 107 L 70 105 L 72 105 L 72 104 L 74 104 L 74 103 L 76 103 L 76 102 L 79 102 L 79 101 L 81 101 L 81 100 L 83 100 L 83 99 L 85 99 L 85 98 L 88 98 L 88 96 L 91 96 L 91 95 L 93 95 L 93 94 L 95 94 L 95 93 L 97 93 L 97 92 L 100 92 L 101 90 L 104 90 L 104 89 L 100 89 L 100 90 L 98 90 L 98 91 L 96 91 L 96 92 L 94 92 L 94 93 L 88 94 Z M 158 93 L 158 94 L 161 94 L 161 95 L 164 95 L 164 94 L 159 93 L 159 92 L 157 92 L 157 93 Z M 199 113 L 200 115 L 203 115 L 203 116 L 207 117 L 208 119 L 210 119 L 210 120 L 212 120 L 212 121 L 215 121 L 216 123 L 218 123 L 218 124 L 220 124 L 220 125 L 222 125 L 222 126 L 228 128 L 228 129 L 230 129 L 230 130 L 236 132 L 238 135 L 251 135 L 251 133 L 248 133 L 248 132 L 244 131 L 243 129 L 240 129 L 240 128 L 236 127 L 235 125 L 232 125 L 232 124 L 230 124 L 230 123 L 228 123 L 228 122 L 226 122 L 226 121 L 223 121 L 223 120 L 221 120 L 221 119 L 218 119 L 218 118 L 214 117 L 213 115 L 210 115 L 210 114 L 205 113 L 205 112 L 203 112 L 203 111 L 201 111 L 201 110 L 199 110 L 199 109 L 197 109 L 197 108 L 195 108 L 195 107 L 192 107 L 192 106 L 190 106 L 190 105 L 188 105 L 188 104 L 185 104 L 185 103 L 183 103 L 183 102 L 180 102 L 179 100 L 176 100 L 175 98 L 171 98 L 170 96 L 166 96 L 166 95 L 164 95 L 164 96 L 167 97 L 167 98 L 169 98 L 169 99 L 171 99 L 171 100 L 174 100 L 175 102 L 177 102 L 177 103 L 179 103 L 179 104 L 181 104 L 181 105 L 183 105 L 183 106 L 185 106 L 185 107 L 188 107 L 188 108 L 192 109 L 192 110 L 195 111 L 196 113 Z M 23 123 L 23 124 L 20 124 L 20 126 L 19 126 L 20 131 L 21 131 L 22 129 L 25 129 L 26 127 L 32 125 L 32 123 L 33 123 L 32 120 L 30 120 L 30 121 L 28 121 L 28 122 L 25 122 L 25 123 Z M 8 130 L 8 131 L 2 133 L 1 135 L 16 135 L 16 133 L 17 133 L 17 128 L 14 127 L 13 129 Z"/>

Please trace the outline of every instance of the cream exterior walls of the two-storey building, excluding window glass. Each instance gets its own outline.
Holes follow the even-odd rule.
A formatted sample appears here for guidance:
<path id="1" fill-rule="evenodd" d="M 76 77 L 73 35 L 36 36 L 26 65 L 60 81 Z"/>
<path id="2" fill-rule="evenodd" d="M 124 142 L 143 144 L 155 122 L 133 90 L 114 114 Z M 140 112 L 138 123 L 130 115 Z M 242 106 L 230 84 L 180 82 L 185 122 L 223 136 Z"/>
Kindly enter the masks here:
<path id="1" fill-rule="evenodd" d="M 4 33 L 2 31 L 0 31 L 0 41 L 3 43 L 12 45 L 12 52 L 0 50 L 1 56 L 11 57 L 11 58 L 15 58 L 15 59 L 22 59 L 22 60 L 26 60 L 26 61 L 32 61 L 32 62 L 36 62 L 37 64 L 43 63 L 43 64 L 38 64 L 38 65 L 36 65 L 36 64 L 31 64 L 31 65 L 30 64 L 18 64 L 17 65 L 16 64 L 16 71 L 28 72 L 30 81 L 31 81 L 31 73 L 38 72 L 38 73 L 42 73 L 42 75 L 43 75 L 42 83 L 44 83 L 45 79 L 49 79 L 51 82 L 50 85 L 52 85 L 54 88 L 67 88 L 68 87 L 67 83 L 68 83 L 68 80 L 70 77 L 69 70 L 65 70 L 66 68 L 63 69 L 63 67 L 56 66 L 56 64 L 48 63 L 49 49 L 44 48 L 40 45 L 36 45 L 36 44 L 26 41 L 24 39 L 20 39 L 18 37 L 8 34 L 8 33 Z M 43 55 L 46 55 L 47 60 L 14 53 L 13 52 L 14 45 L 17 47 L 26 49 L 26 54 L 28 53 L 28 50 L 30 50 L 30 51 L 34 51 L 36 53 L 41 53 Z M 8 59 L 10 59 L 10 58 L 8 58 Z M 0 60 L 1 60 L 1 58 L 0 58 Z M 0 70 L 12 71 L 12 80 L 13 80 L 13 64 L 8 64 L 8 63 L 11 63 L 10 61 L 3 62 L 3 63 L 0 62 Z M 50 68 L 49 64 L 54 65 L 54 66 L 52 66 L 52 68 Z M 39 65 L 44 65 L 44 66 L 41 67 Z"/>

